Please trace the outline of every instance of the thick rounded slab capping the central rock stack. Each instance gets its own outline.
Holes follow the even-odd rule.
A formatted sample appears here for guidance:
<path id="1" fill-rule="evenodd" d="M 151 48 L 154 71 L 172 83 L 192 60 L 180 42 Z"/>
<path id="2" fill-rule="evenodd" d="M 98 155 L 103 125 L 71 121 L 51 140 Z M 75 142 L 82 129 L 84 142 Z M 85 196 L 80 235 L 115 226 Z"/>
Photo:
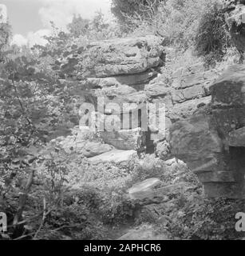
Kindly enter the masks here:
<path id="1" fill-rule="evenodd" d="M 162 62 L 164 40 L 156 36 L 92 42 L 81 62 L 88 78 L 139 74 Z"/>

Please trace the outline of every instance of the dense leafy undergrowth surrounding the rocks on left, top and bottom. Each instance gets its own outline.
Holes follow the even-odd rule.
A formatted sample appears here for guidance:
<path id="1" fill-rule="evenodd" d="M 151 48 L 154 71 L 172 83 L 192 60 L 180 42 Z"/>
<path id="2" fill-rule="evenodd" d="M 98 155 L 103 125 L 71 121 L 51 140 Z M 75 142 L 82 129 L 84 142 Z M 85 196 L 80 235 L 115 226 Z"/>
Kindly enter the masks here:
<path id="1" fill-rule="evenodd" d="M 239 59 L 216 1 L 146 1 L 143 6 L 135 1 L 130 12 L 122 1 L 113 2 L 119 24 L 106 23 L 101 14 L 92 21 L 74 17 L 68 32 L 53 24 L 46 46 L 10 46 L 10 27 L 1 25 L 0 211 L 9 221 L 2 238 L 106 239 L 113 227 L 129 220 L 132 226 L 151 223 L 156 233 L 176 239 L 237 238 L 234 216 L 243 202 L 205 199 L 185 166 L 166 166 L 148 155 L 124 167 L 94 166 L 52 142 L 78 125 L 84 92 L 79 87 L 83 74 L 75 70 L 89 62 L 74 55 L 85 53 L 90 41 L 152 33 L 164 37 L 169 55 L 162 79 L 168 86 L 180 66 L 204 61 L 207 68 L 222 68 Z M 197 190 L 172 198 L 171 210 L 159 210 L 160 216 L 139 215 L 140 206 L 126 192 L 146 178 L 189 182 Z"/>

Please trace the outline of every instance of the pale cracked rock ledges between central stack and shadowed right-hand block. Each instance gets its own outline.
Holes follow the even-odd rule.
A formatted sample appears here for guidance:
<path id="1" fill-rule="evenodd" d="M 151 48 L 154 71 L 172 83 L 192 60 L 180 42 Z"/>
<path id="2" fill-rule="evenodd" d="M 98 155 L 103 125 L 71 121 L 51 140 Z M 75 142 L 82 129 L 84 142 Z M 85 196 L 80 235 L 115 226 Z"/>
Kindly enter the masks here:
<path id="1" fill-rule="evenodd" d="M 169 87 L 159 82 L 150 85 L 151 102 L 164 102 L 166 106 L 166 136 L 168 140 L 168 130 L 173 123 L 184 118 L 189 118 L 200 107 L 211 102 L 209 87 L 219 77 L 219 70 L 207 70 L 204 63 L 200 62 L 193 66 L 180 68 L 172 74 L 172 82 Z M 160 80 L 161 78 L 157 78 Z M 149 86 L 146 86 L 148 88 Z M 156 90 L 154 90 L 156 88 Z M 157 95 L 157 91 L 160 92 Z M 157 95 L 157 96 L 156 96 Z M 171 158 L 168 149 L 168 142 L 156 141 L 156 155 L 163 160 Z"/>

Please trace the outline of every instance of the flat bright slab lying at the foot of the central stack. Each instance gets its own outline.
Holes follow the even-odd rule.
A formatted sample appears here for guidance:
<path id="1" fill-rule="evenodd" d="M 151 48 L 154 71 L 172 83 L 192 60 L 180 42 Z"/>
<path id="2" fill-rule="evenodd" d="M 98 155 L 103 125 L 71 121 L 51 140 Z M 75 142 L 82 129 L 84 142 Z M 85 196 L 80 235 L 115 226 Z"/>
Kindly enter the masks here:
<path id="1" fill-rule="evenodd" d="M 112 162 L 116 165 L 127 165 L 137 158 L 135 150 L 111 150 L 105 154 L 97 155 L 96 157 L 89 158 L 93 164 L 101 162 Z"/>

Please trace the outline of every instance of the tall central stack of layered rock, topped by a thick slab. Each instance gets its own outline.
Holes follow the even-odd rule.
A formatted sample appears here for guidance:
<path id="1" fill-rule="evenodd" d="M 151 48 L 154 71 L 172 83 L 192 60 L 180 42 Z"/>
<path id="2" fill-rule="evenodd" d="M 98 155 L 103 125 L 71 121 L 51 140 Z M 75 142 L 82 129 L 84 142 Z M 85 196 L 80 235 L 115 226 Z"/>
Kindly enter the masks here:
<path id="1" fill-rule="evenodd" d="M 96 106 L 96 116 L 105 129 L 98 133 L 117 150 L 145 150 L 148 120 L 142 123 L 141 117 L 147 118 L 148 94 L 144 86 L 164 64 L 163 45 L 164 39 L 155 36 L 118 38 L 92 42 L 82 56 L 85 81 L 81 86 L 93 94 L 89 101 L 94 105 L 99 105 L 98 98 L 103 99 L 102 106 Z"/>

